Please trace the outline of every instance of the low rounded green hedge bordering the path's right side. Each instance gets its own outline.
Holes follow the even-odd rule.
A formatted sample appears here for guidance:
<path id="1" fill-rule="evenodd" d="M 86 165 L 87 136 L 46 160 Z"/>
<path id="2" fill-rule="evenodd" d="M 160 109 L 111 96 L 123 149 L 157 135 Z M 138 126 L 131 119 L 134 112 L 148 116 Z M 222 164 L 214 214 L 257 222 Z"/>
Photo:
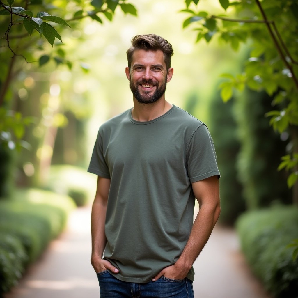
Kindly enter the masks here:
<path id="1" fill-rule="evenodd" d="M 274 206 L 245 213 L 237 223 L 240 243 L 252 271 L 278 298 L 298 294 L 298 258 L 287 245 L 298 238 L 298 208 Z"/>

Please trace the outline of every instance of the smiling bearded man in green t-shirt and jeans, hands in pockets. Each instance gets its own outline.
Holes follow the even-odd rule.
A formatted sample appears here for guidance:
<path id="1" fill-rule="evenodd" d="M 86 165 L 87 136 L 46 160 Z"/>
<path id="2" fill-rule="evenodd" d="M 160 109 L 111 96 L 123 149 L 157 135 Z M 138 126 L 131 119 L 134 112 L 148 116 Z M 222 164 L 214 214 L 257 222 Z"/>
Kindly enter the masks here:
<path id="1" fill-rule="evenodd" d="M 193 297 L 193 263 L 220 214 L 207 127 L 165 100 L 172 46 L 137 35 L 127 51 L 134 107 L 99 129 L 91 263 L 101 298 Z M 193 223 L 195 198 L 200 210 Z"/>

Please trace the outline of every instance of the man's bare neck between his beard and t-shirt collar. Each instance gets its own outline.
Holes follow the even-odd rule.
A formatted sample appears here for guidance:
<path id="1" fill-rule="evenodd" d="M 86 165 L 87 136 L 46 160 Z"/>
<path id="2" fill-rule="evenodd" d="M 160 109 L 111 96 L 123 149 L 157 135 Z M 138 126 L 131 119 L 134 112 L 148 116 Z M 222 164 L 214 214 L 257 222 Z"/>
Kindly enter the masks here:
<path id="1" fill-rule="evenodd" d="M 145 122 L 156 119 L 172 108 L 173 105 L 168 103 L 164 98 L 160 98 L 155 103 L 139 103 L 134 98 L 134 108 L 131 111 L 131 116 L 134 120 Z"/>

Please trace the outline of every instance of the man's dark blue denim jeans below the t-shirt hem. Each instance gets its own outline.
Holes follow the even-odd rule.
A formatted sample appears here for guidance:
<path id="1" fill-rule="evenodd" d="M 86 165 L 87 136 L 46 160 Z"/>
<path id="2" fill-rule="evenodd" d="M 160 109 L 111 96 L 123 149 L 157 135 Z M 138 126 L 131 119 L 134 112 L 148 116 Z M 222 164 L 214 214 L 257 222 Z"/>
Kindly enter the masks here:
<path id="1" fill-rule="evenodd" d="M 155 282 L 130 283 L 118 280 L 107 270 L 97 273 L 100 298 L 193 298 L 193 282 L 187 278 L 161 277 Z"/>

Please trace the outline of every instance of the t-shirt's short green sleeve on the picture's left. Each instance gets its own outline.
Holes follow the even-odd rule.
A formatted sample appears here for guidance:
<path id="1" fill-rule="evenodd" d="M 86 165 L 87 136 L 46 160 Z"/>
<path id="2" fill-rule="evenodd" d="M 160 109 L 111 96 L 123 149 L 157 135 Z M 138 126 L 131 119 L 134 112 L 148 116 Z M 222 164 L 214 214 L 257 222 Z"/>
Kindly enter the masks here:
<path id="1" fill-rule="evenodd" d="M 105 162 L 103 154 L 103 138 L 100 134 L 100 130 L 98 131 L 97 139 L 93 148 L 88 172 L 103 178 L 111 178 L 108 165 Z"/>

